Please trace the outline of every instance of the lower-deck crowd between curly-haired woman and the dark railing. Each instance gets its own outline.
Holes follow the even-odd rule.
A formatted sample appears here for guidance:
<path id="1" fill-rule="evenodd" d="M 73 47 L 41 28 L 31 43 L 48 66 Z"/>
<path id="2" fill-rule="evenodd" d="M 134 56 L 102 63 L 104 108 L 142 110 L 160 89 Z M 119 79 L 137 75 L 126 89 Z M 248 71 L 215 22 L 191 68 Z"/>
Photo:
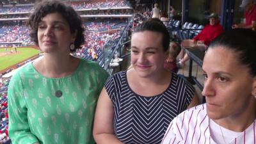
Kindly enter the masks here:
<path id="1" fill-rule="evenodd" d="M 84 23 L 86 26 L 86 44 L 82 49 L 74 52 L 74 56 L 84 59 L 97 60 L 102 55 L 104 44 L 109 40 L 115 40 L 120 36 L 120 29 L 125 25 L 125 21 L 91 21 Z M 110 31 L 110 33 L 109 33 Z"/>

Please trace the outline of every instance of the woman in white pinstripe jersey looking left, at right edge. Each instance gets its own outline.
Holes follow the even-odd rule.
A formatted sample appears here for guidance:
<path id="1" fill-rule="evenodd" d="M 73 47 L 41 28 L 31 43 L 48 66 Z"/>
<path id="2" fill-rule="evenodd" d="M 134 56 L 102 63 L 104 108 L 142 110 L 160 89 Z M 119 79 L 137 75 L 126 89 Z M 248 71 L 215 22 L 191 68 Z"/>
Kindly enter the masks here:
<path id="1" fill-rule="evenodd" d="M 206 104 L 174 118 L 164 144 L 255 143 L 255 37 L 255 31 L 232 29 L 211 43 L 202 67 Z"/>

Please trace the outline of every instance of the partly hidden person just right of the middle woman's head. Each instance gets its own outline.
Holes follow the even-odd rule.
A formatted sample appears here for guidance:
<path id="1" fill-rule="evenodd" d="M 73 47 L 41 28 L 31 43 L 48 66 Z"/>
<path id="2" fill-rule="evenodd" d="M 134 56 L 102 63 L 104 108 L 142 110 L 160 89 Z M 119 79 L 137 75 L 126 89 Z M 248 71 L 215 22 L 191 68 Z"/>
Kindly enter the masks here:
<path id="1" fill-rule="evenodd" d="M 164 61 L 164 68 L 166 70 L 169 70 L 171 72 L 178 72 L 177 67 L 177 56 L 179 55 L 179 52 L 181 50 L 181 47 L 176 42 L 170 42 L 170 48 L 169 48 L 169 56 Z"/>

